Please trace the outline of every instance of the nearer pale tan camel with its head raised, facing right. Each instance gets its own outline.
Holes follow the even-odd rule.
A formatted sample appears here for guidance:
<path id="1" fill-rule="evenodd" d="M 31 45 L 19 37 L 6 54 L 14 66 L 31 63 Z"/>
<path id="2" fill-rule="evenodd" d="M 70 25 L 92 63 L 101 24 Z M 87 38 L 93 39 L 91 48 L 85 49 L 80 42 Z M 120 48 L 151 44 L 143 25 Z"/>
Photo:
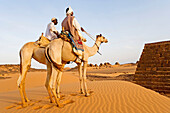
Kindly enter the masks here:
<path id="1" fill-rule="evenodd" d="M 88 58 L 95 55 L 99 50 L 99 46 L 101 43 L 107 43 L 107 39 L 103 37 L 101 34 L 97 35 L 95 44 L 93 47 L 88 47 L 83 43 L 84 47 L 84 55 L 83 55 L 83 62 L 78 63 L 78 71 L 80 77 L 80 93 L 85 93 L 85 96 L 89 96 L 87 91 L 87 84 L 86 84 L 86 70 L 87 70 L 87 63 Z M 51 65 L 47 65 L 48 73 L 47 81 L 49 82 L 48 92 L 52 92 L 55 102 L 58 104 L 59 95 L 59 86 L 61 82 L 62 76 L 62 68 L 65 64 L 69 61 L 76 61 L 77 56 L 72 52 L 72 45 L 60 39 L 53 40 L 47 47 L 45 51 L 46 58 L 48 59 L 48 63 Z M 83 75 L 82 75 L 82 63 L 83 63 Z M 57 82 L 57 91 L 55 91 L 55 85 Z M 83 90 L 84 89 L 84 90 Z M 57 93 L 56 93 L 57 92 Z M 50 95 L 50 100 L 52 100 L 52 94 Z"/>

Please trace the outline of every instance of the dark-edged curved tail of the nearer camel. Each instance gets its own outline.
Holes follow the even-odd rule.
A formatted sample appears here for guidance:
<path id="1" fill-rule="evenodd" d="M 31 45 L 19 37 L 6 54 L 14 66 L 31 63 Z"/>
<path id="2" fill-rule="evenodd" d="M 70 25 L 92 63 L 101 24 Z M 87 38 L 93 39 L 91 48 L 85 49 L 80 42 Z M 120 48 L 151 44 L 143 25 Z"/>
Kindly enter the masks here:
<path id="1" fill-rule="evenodd" d="M 48 60 L 48 62 L 52 63 L 54 67 L 56 67 L 58 70 L 63 71 L 63 66 L 61 64 L 57 64 L 49 55 L 49 47 L 47 46 L 45 48 L 45 57 Z"/>

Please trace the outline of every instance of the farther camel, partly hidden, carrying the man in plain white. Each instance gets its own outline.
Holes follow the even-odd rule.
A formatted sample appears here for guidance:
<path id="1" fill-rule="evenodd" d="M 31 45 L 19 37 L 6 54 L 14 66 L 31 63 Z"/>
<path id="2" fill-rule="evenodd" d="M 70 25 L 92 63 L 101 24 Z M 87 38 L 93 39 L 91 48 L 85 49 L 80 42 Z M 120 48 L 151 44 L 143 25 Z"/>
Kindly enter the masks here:
<path id="1" fill-rule="evenodd" d="M 32 58 L 34 58 L 39 63 L 47 65 L 47 78 L 46 78 L 45 87 L 47 88 L 48 94 L 50 96 L 50 102 L 54 102 L 52 100 L 51 91 L 49 90 L 49 79 L 51 75 L 51 69 L 48 67 L 51 67 L 51 64 L 47 62 L 45 53 L 44 53 L 44 50 L 45 50 L 44 47 L 48 45 L 49 42 L 50 41 L 46 37 L 44 37 L 42 33 L 42 35 L 39 37 L 39 40 L 37 40 L 36 42 L 26 43 L 20 50 L 20 75 L 17 81 L 17 85 L 18 85 L 19 92 L 21 95 L 21 101 L 22 101 L 23 107 L 26 107 L 28 105 L 27 102 L 29 102 L 29 99 L 27 98 L 26 92 L 25 92 L 25 78 L 26 78 L 27 71 L 31 66 Z M 79 70 L 80 81 L 81 81 L 82 80 L 81 64 L 78 64 L 78 67 L 79 67 L 78 70 Z M 82 82 L 80 84 L 81 84 L 80 86 L 82 86 Z M 82 88 L 81 88 L 81 92 L 83 92 Z"/>

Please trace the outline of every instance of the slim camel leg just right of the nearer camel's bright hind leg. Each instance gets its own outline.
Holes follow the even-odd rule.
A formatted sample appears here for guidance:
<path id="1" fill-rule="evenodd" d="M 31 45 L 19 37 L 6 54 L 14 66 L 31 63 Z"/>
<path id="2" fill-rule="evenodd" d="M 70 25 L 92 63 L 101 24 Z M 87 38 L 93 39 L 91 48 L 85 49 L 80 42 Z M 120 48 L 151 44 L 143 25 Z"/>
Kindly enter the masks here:
<path id="1" fill-rule="evenodd" d="M 62 68 L 64 68 L 65 63 L 62 64 Z M 61 77 L 62 77 L 63 72 L 59 71 L 58 76 L 57 76 L 57 89 L 56 89 L 56 93 L 57 93 L 57 98 L 60 98 L 60 83 L 61 83 Z"/>

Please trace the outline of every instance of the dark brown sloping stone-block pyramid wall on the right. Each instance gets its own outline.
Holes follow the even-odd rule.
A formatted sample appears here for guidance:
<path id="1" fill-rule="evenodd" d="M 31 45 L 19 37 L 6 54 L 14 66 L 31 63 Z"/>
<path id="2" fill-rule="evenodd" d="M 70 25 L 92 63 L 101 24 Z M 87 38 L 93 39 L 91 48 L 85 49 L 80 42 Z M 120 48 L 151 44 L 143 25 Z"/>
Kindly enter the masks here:
<path id="1" fill-rule="evenodd" d="M 145 44 L 134 81 L 157 92 L 170 94 L 170 41 Z"/>

